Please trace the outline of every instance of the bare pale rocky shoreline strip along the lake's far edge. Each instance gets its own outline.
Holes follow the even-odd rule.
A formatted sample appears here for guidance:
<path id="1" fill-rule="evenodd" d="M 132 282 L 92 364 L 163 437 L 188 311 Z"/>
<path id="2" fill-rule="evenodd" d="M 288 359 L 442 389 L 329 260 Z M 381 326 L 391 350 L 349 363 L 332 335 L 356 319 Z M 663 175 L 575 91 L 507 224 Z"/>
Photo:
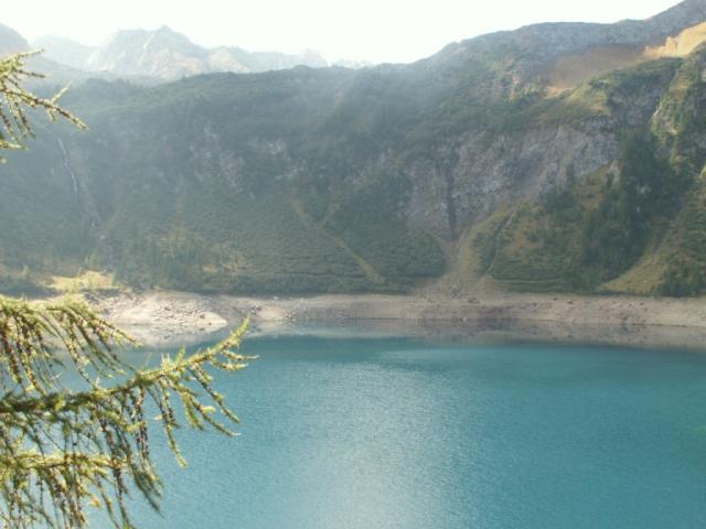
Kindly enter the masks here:
<path id="1" fill-rule="evenodd" d="M 409 336 L 706 350 L 706 299 L 525 293 L 244 298 L 169 291 L 84 298 L 151 347 L 217 339 L 249 317 L 250 337 Z"/>

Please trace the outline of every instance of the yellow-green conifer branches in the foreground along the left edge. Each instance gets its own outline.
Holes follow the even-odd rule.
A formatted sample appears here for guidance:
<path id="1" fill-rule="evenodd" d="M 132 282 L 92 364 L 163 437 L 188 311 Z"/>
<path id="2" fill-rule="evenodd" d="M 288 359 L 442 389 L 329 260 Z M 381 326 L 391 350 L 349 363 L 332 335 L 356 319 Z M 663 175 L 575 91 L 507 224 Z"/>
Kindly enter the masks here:
<path id="1" fill-rule="evenodd" d="M 25 68 L 31 55 L 0 61 L 0 149 L 24 148 L 33 136 L 32 109 L 85 128 L 60 106 L 63 91 L 44 99 L 24 88 L 28 78 L 41 77 Z M 247 366 L 252 358 L 237 353 L 246 326 L 213 347 L 181 349 L 157 367 L 133 369 L 118 349 L 138 344 L 85 303 L 0 298 L 3 527 L 85 527 L 89 507 L 107 511 L 115 527 L 133 527 L 125 499 L 135 490 L 158 509 L 162 483 L 150 455 L 150 424 L 163 429 L 182 465 L 180 422 L 234 435 L 238 419 L 208 371 Z M 72 388 L 62 384 L 69 370 L 81 380 Z"/>

